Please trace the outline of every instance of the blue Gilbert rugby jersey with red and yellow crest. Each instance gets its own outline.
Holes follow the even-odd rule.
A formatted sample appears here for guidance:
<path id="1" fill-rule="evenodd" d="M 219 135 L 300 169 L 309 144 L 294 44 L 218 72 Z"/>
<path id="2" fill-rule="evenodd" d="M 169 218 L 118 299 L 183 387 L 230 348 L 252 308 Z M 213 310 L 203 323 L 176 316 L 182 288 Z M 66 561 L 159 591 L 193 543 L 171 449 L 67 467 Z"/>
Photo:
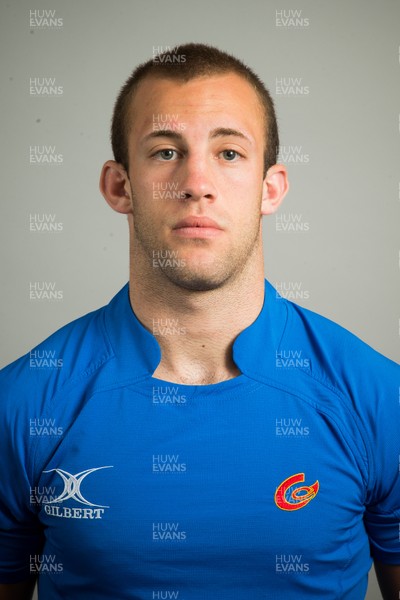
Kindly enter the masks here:
<path id="1" fill-rule="evenodd" d="M 40 600 L 364 598 L 400 563 L 400 369 L 281 298 L 241 375 L 155 379 L 126 285 L 2 371 L 0 581 Z M 156 335 L 157 334 L 157 335 Z"/>

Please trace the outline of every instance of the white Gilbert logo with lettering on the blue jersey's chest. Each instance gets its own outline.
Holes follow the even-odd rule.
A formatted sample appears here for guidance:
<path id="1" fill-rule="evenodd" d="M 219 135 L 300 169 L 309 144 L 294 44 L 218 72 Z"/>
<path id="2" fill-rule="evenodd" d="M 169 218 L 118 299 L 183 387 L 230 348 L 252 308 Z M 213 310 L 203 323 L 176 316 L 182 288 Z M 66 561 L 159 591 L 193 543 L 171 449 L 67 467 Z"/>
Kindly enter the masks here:
<path id="1" fill-rule="evenodd" d="M 51 500 L 44 505 L 45 513 L 53 517 L 63 517 L 65 519 L 101 519 L 102 515 L 104 514 L 104 509 L 110 507 L 90 502 L 84 498 L 81 492 L 81 484 L 85 477 L 91 473 L 94 473 L 95 471 L 100 471 L 101 469 L 112 469 L 112 465 L 107 467 L 86 469 L 86 471 L 81 471 L 75 475 L 68 473 L 68 471 L 64 471 L 64 469 L 50 469 L 49 471 L 43 471 L 43 473 L 52 473 L 55 471 L 58 475 L 60 475 L 64 482 L 64 489 L 61 494 L 57 496 L 57 498 L 54 498 L 54 500 Z M 92 508 L 50 506 L 51 504 L 60 504 L 61 502 L 65 502 L 66 500 L 70 499 Z"/>

